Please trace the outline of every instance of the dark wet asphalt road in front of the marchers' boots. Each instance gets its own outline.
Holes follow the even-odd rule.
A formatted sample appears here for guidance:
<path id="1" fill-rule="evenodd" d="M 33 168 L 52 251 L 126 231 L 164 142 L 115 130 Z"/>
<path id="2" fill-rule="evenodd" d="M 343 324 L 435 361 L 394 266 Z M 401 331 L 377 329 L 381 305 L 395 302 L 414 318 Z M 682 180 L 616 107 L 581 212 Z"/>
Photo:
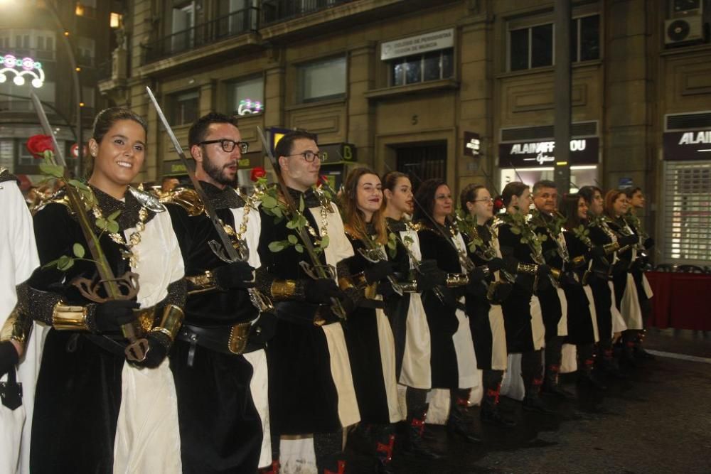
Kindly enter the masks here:
<path id="1" fill-rule="evenodd" d="M 646 347 L 711 357 L 711 335 L 650 331 Z M 520 420 L 515 429 L 482 426 L 479 407 L 473 407 L 482 443 L 466 444 L 442 426 L 428 427 L 430 445 L 446 457 L 422 460 L 396 448 L 393 467 L 426 474 L 711 473 L 708 362 L 657 357 L 630 370 L 629 379 L 609 380 L 604 393 L 582 393 L 569 402 L 544 396 L 555 416 L 522 412 L 520 403 L 502 397 L 503 411 Z M 564 382 L 575 390 L 574 377 Z"/>

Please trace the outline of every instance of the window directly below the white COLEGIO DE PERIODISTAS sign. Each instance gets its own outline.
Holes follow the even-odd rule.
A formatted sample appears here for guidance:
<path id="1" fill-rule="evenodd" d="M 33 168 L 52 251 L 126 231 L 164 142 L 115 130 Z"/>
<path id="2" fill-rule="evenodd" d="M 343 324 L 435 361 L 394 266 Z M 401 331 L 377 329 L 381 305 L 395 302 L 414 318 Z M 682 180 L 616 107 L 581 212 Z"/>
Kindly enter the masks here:
<path id="1" fill-rule="evenodd" d="M 390 62 L 390 85 L 417 84 L 454 75 L 454 50 L 430 51 Z"/>

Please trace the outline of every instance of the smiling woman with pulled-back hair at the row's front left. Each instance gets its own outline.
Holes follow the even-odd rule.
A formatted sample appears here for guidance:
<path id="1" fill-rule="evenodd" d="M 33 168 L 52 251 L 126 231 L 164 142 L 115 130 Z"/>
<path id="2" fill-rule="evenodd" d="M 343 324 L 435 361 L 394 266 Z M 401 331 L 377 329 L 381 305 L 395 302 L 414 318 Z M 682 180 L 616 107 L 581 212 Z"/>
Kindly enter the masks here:
<path id="1" fill-rule="evenodd" d="M 136 114 L 100 112 L 88 146 L 94 166 L 81 189 L 112 273 L 138 279 L 132 297 L 87 292 L 87 281 L 98 281 L 97 264 L 77 252 L 89 247 L 64 192 L 34 217 L 42 266 L 23 288 L 23 306 L 51 328 L 37 381 L 33 473 L 181 471 L 166 355 L 183 318 L 183 258 L 166 208 L 129 186 L 145 144 L 146 124 Z M 68 255 L 77 258 L 61 265 Z M 144 357 L 124 352 L 125 325 L 147 341 Z"/>

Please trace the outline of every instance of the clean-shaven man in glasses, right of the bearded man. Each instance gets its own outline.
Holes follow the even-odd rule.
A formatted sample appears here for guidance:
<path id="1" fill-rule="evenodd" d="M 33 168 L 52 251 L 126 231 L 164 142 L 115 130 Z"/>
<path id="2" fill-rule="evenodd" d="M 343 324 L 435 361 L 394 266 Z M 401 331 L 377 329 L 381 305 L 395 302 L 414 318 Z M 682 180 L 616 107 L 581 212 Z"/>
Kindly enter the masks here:
<path id="1" fill-rule="evenodd" d="M 336 284 L 351 283 L 347 266 L 353 247 L 343 231 L 341 215 L 333 203 L 317 192 L 319 168 L 324 154 L 316 137 L 292 131 L 277 142 L 274 156 L 278 173 L 297 206 L 304 203 L 303 215 L 313 244 L 328 236 L 328 245 L 318 254 L 320 265 L 337 268 L 333 278 L 314 279 L 304 269 L 313 267 L 305 252 L 289 245 L 272 251 L 274 242 L 299 235 L 287 225 L 292 217 L 275 219 L 262 207 L 260 261 L 257 287 L 269 295 L 277 309 L 277 327 L 269 342 L 269 407 L 274 441 L 279 436 L 282 472 L 329 470 L 342 473 L 342 430 L 360 421 L 351 377 L 351 365 L 338 317 L 331 311 L 333 298 L 351 310 L 353 299 Z M 272 247 L 273 248 L 273 247 Z M 265 272 L 264 270 L 268 271 Z M 276 443 L 275 443 L 276 444 Z M 316 466 L 314 466 L 314 453 Z"/>

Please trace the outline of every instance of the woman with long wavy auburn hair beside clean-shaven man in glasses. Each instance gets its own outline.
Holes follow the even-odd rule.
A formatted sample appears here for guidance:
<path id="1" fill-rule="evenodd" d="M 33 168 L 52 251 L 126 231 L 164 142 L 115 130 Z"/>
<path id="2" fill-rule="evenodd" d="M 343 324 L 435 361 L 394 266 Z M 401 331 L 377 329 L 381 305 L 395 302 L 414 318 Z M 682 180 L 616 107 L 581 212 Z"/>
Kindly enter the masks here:
<path id="1" fill-rule="evenodd" d="M 344 328 L 348 358 L 351 361 L 355 397 L 360 410 L 360 431 L 375 448 L 381 473 L 390 473 L 395 423 L 402 421 L 397 403 L 395 342 L 392 328 L 383 312 L 383 293 L 392 293 L 387 280 L 395 266 L 387 260 L 387 228 L 383 215 L 383 189 L 380 178 L 368 168 L 348 173 L 341 194 L 343 227 L 355 254 L 341 261 L 347 265 L 348 280 L 341 289 L 357 290 L 358 304 Z M 343 274 L 343 271 L 339 271 Z M 390 288 L 387 288 L 390 286 Z"/>

